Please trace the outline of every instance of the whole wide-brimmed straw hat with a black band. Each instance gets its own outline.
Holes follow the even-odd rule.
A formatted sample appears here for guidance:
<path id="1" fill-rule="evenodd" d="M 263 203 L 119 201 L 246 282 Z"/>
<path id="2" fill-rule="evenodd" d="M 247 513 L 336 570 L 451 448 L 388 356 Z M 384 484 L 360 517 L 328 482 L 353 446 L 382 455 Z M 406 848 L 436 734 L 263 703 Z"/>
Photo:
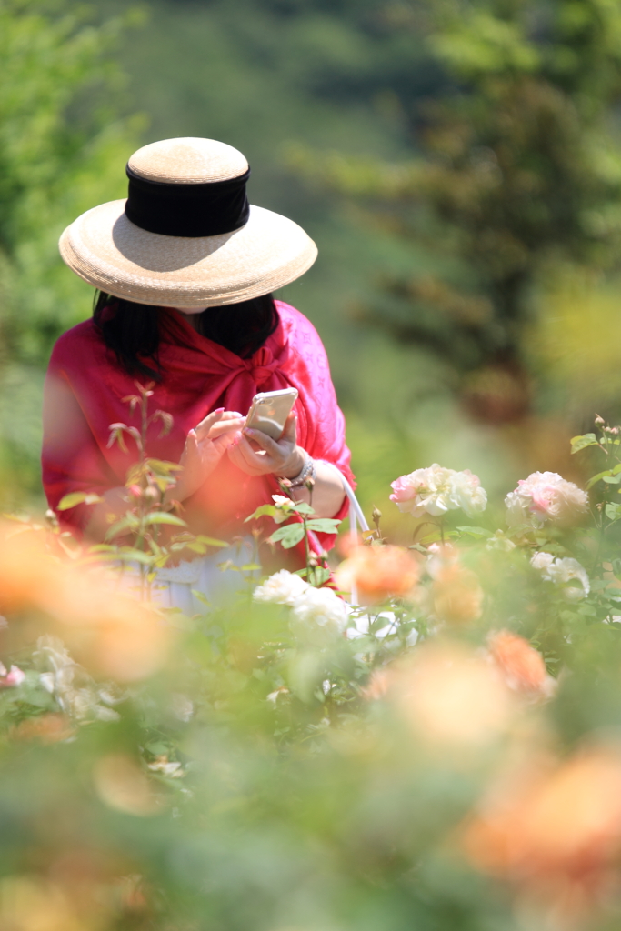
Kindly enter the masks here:
<path id="1" fill-rule="evenodd" d="M 138 304 L 237 304 L 289 284 L 317 246 L 286 217 L 250 207 L 244 155 L 212 139 L 145 145 L 128 161 L 128 199 L 83 213 L 61 256 L 88 284 Z"/>

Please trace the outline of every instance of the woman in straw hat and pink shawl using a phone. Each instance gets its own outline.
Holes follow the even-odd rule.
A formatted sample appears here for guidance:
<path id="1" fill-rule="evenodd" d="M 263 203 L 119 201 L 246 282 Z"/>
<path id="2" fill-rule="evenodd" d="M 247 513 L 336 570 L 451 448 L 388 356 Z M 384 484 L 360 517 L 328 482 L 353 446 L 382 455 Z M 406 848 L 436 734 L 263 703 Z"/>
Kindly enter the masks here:
<path id="1" fill-rule="evenodd" d="M 278 478 L 308 500 L 305 480 L 314 477 L 317 514 L 343 516 L 334 466 L 352 476 L 325 351 L 310 322 L 271 296 L 314 263 L 315 244 L 285 217 L 249 206 L 248 162 L 222 142 L 155 142 L 131 156 L 127 173 L 127 201 L 88 210 L 61 236 L 65 263 L 100 294 L 93 318 L 61 336 L 49 364 L 50 507 L 70 492 L 98 492 L 102 503 L 59 515 L 95 541 L 110 515 L 127 509 L 137 448 L 109 447 L 109 427 L 138 425 L 124 400 L 138 381 L 153 383 L 150 411 L 172 415 L 166 437 L 151 425 L 147 452 L 181 463 L 170 499 L 182 502 L 194 533 L 248 534 L 244 519 L 279 491 Z M 281 439 L 245 427 L 257 391 L 291 386 L 299 398 Z M 196 587 L 200 571 L 209 588 L 215 562 L 198 561 L 160 578 L 192 576 L 185 584 Z"/>

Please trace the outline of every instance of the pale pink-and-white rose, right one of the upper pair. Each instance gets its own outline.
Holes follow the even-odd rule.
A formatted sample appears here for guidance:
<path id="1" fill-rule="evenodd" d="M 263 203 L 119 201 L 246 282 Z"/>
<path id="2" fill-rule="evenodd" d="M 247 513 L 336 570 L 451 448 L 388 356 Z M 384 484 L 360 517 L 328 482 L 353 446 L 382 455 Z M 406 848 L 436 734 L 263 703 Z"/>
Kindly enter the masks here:
<path id="1" fill-rule="evenodd" d="M 506 522 L 511 527 L 529 519 L 539 525 L 546 520 L 571 523 L 587 510 L 588 495 L 557 472 L 533 472 L 506 495 L 505 505 Z"/>

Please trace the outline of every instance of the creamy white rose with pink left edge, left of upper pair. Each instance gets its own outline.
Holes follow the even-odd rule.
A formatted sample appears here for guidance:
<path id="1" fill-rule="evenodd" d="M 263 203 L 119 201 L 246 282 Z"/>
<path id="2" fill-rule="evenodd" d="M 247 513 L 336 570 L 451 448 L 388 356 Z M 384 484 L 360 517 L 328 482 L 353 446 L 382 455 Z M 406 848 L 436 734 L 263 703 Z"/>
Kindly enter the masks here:
<path id="1" fill-rule="evenodd" d="M 461 507 L 468 517 L 487 506 L 487 494 L 480 487 L 478 476 L 469 469 L 455 472 L 437 463 L 402 475 L 391 484 L 390 500 L 404 514 L 420 518 L 424 514 L 439 516 Z"/>

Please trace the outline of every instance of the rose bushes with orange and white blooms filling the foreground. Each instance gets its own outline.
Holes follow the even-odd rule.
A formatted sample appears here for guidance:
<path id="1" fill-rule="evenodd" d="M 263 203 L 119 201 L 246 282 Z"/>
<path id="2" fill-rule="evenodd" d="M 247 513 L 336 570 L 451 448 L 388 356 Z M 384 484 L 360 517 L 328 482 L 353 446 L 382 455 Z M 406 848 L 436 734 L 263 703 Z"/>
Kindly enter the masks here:
<path id="1" fill-rule="evenodd" d="M 0 924 L 615 927 L 610 430 L 574 440 L 602 460 L 590 518 L 587 492 L 534 473 L 499 528 L 475 476 L 417 469 L 394 490 L 409 546 L 377 527 L 331 579 L 309 545 L 297 573 L 250 567 L 236 603 L 194 617 L 115 593 L 58 530 L 7 524 Z M 290 548 L 314 518 L 284 492 L 249 529 Z"/>

